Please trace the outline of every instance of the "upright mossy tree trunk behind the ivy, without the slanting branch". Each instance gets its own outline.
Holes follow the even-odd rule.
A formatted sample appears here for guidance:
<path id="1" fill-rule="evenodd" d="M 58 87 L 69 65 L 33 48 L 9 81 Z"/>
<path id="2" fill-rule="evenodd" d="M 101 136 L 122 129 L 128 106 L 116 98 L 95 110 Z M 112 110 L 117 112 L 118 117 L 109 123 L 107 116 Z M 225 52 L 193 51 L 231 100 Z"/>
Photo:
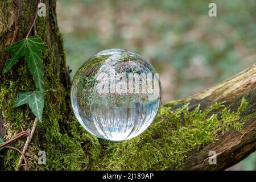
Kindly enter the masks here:
<path id="1" fill-rule="evenodd" d="M 56 92 L 46 92 L 44 119 L 38 124 L 32 143 L 27 151 L 29 169 L 76 169 L 77 158 L 84 161 L 79 138 L 72 139 L 71 125 L 75 123 L 69 102 L 71 80 L 69 69 L 65 64 L 63 40 L 57 27 L 56 1 L 42 1 L 46 4 L 46 17 L 38 17 L 32 35 L 38 34 L 48 49 L 43 51 L 44 85 L 46 89 L 53 88 Z M 13 103 L 18 93 L 35 90 L 24 60 L 19 60 L 10 72 L 3 74 L 2 68 L 10 55 L 3 49 L 24 39 L 34 20 L 39 1 L 0 1 L 0 132 L 5 140 L 14 137 L 22 130 L 31 130 L 34 115 L 27 105 L 15 108 Z M 77 132 L 76 132 L 77 133 Z M 13 146 L 22 149 L 26 138 Z M 66 148 L 66 149 L 63 149 Z M 48 164 L 39 166 L 36 158 L 39 151 L 46 151 Z M 4 150 L 0 159 L 0 169 L 15 169 L 19 155 L 14 151 Z M 57 159 L 56 162 L 51 160 Z M 73 161 L 73 162 L 72 162 Z M 80 168 L 79 166 L 79 168 Z"/>

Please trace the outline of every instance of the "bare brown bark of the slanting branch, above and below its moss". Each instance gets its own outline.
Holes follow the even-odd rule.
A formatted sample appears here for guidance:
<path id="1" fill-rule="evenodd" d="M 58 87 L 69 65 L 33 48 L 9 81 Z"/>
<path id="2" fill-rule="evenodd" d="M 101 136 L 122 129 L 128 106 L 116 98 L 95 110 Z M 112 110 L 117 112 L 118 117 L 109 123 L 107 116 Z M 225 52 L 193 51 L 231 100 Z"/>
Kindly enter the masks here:
<path id="1" fill-rule="evenodd" d="M 245 124 L 241 131 L 229 130 L 225 135 L 219 135 L 218 141 L 210 143 L 200 150 L 200 154 L 191 154 L 188 160 L 179 170 L 221 170 L 226 169 L 247 155 L 256 150 L 256 65 L 241 72 L 237 76 L 214 86 L 200 94 L 188 98 L 186 101 L 201 104 L 203 107 L 209 106 L 215 101 L 225 101 L 233 110 L 237 107 L 238 101 L 245 96 L 246 100 L 251 100 L 251 104 L 241 115 L 250 114 L 251 117 L 245 119 Z M 217 165 L 209 165 L 209 151 L 216 151 Z"/>

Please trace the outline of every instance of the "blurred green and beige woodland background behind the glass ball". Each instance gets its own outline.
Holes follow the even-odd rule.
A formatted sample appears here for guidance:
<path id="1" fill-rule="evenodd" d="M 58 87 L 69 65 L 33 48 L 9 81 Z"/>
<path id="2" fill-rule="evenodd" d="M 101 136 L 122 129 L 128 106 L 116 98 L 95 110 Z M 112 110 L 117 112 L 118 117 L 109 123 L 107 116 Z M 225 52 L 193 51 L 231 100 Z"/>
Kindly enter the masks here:
<path id="1" fill-rule="evenodd" d="M 210 2 L 217 17 L 208 15 Z M 128 49 L 160 73 L 163 103 L 200 92 L 256 60 L 255 0 L 60 0 L 57 15 L 72 78 L 95 53 Z M 256 170 L 256 152 L 232 169 Z"/>

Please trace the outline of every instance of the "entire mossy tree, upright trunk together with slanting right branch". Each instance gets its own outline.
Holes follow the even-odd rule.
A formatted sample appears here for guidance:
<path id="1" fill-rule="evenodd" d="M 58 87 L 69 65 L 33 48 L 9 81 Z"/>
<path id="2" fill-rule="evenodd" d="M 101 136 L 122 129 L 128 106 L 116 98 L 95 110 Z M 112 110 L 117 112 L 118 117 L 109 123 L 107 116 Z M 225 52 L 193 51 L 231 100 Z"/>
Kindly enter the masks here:
<path id="1" fill-rule="evenodd" d="M 255 151 L 256 66 L 230 80 L 184 100 L 162 107 L 142 135 L 125 142 L 108 142 L 88 134 L 76 121 L 69 101 L 69 69 L 57 28 L 56 1 L 46 3 L 46 17 L 38 17 L 33 34 L 48 45 L 43 51 L 46 92 L 43 122 L 27 150 L 28 169 L 225 169 Z M 34 115 L 28 106 L 13 107 L 17 94 L 34 90 L 24 60 L 9 73 L 2 68 L 10 55 L 2 50 L 26 37 L 38 2 L 0 2 L 0 134 L 5 140 L 30 130 Z M 26 138 L 12 146 L 22 148 Z M 38 152 L 46 152 L 46 165 Z M 216 151 L 217 165 L 208 163 Z M 2 150 L 0 169 L 16 168 L 19 154 Z"/>

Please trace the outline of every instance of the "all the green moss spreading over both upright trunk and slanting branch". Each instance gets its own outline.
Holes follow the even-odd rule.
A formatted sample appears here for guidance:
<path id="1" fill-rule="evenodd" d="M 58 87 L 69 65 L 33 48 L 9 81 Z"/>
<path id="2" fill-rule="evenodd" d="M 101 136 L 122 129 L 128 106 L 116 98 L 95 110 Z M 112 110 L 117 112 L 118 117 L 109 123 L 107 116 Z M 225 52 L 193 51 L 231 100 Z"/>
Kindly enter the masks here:
<path id="1" fill-rule="evenodd" d="M 34 14 L 30 6 L 24 4 L 24 7 L 26 9 L 20 13 L 22 17 L 19 38 L 24 38 L 31 24 L 31 18 L 27 17 Z M 45 21 L 46 18 L 43 17 L 36 20 L 38 35 L 44 42 L 47 36 L 51 36 L 49 41 L 56 43 L 56 37 L 59 35 L 47 35 Z M 57 31 L 57 27 L 52 27 L 51 23 L 49 26 L 50 31 Z M 162 107 L 158 118 L 142 135 L 124 142 L 99 142 L 96 137 L 82 129 L 75 117 L 70 114 L 70 102 L 67 102 L 69 90 L 63 86 L 63 44 L 58 44 L 61 44 L 60 47 L 56 47 L 56 44 L 54 48 L 53 45 L 49 45 L 48 49 L 43 51 L 44 84 L 47 89 L 53 88 L 56 92 L 45 93 L 43 122 L 38 123 L 27 150 L 29 169 L 164 169 L 169 164 L 179 166 L 187 158 L 188 152 L 199 151 L 205 144 L 214 142 L 218 134 L 225 133 L 230 128 L 240 130 L 243 119 L 253 117 L 245 115 L 241 118 L 242 111 L 247 107 L 245 100 L 242 100 L 237 111 L 227 109 L 223 103 L 216 103 L 204 111 L 200 106 L 190 111 L 189 105 L 175 101 Z M 58 57 L 55 51 L 61 52 Z M 28 106 L 13 107 L 18 93 L 34 90 L 35 86 L 27 66 L 20 63 L 22 61 L 15 66 L 17 69 L 4 75 L 4 82 L 0 82 L 0 111 L 8 128 L 5 139 L 14 137 L 22 130 L 31 129 L 34 122 L 34 115 Z M 59 70 L 57 67 L 60 67 Z M 14 80 L 13 77 L 18 79 Z M 177 105 L 179 109 L 172 111 L 171 109 Z M 220 115 L 213 114 L 216 110 L 221 110 L 218 111 Z M 24 137 L 11 145 L 21 149 L 25 141 Z M 41 150 L 46 151 L 45 166 L 37 163 L 37 154 Z M 1 151 L 0 155 L 0 160 L 3 160 L 0 169 L 16 168 L 20 157 L 17 152 Z"/>

